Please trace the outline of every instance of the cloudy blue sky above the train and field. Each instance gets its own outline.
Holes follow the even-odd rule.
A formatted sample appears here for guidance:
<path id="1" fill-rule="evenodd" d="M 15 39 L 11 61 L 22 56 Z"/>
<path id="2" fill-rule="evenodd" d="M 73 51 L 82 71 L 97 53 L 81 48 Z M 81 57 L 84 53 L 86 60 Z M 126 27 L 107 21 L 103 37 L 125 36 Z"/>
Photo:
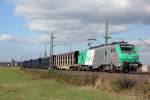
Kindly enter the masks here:
<path id="1" fill-rule="evenodd" d="M 149 0 L 0 0 L 0 60 L 42 57 L 50 33 L 55 44 L 65 44 L 55 53 L 88 48 L 89 38 L 101 44 L 106 20 L 110 42 L 141 45 L 141 60 L 149 63 Z"/>

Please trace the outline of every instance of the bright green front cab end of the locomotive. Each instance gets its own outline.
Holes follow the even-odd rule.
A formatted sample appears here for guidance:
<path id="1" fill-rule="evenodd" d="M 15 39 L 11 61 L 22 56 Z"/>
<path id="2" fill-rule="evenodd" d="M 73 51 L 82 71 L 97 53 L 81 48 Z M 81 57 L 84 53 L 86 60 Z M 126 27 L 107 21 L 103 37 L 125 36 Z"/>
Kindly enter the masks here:
<path id="1" fill-rule="evenodd" d="M 135 45 L 121 43 L 116 45 L 118 64 L 123 71 L 136 71 L 142 64 L 139 61 L 138 48 Z"/>

